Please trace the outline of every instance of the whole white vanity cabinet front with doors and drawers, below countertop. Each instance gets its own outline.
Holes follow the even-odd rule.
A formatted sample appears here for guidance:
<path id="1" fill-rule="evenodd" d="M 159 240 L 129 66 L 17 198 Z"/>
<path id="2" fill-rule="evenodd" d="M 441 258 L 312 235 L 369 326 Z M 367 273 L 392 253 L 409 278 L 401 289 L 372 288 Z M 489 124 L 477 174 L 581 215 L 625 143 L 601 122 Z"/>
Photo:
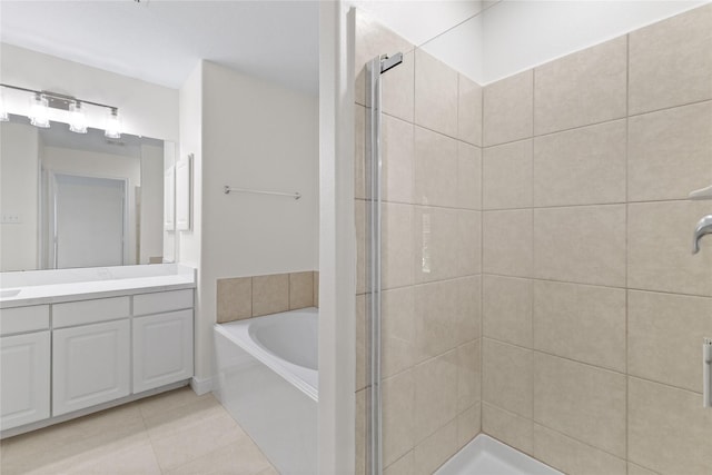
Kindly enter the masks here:
<path id="1" fill-rule="evenodd" d="M 146 291 L 0 309 L 3 436 L 192 377 L 194 289 Z"/>

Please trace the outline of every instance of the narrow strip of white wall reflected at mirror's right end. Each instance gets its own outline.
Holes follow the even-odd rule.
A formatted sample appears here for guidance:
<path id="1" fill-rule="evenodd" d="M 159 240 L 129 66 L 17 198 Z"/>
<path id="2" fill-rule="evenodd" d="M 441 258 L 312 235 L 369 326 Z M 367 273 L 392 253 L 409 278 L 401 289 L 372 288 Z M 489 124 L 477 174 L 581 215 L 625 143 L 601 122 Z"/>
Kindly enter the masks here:
<path id="1" fill-rule="evenodd" d="M 164 148 L 141 145 L 139 264 L 164 255 Z"/>

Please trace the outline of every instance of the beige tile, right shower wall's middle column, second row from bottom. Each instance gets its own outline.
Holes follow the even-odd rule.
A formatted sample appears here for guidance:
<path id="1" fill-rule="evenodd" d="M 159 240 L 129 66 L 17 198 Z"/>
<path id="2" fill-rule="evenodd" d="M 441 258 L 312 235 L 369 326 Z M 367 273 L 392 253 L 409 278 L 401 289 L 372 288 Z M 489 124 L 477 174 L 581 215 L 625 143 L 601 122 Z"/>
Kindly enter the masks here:
<path id="1" fill-rule="evenodd" d="M 535 353 L 534 420 L 625 457 L 625 375 Z"/>

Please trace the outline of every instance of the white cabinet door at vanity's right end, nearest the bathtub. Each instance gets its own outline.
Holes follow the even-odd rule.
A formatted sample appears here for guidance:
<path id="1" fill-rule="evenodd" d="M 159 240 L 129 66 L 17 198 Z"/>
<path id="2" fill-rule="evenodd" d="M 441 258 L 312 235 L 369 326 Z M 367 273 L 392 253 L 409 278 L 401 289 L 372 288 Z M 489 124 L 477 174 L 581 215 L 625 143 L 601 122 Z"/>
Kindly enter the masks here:
<path id="1" fill-rule="evenodd" d="M 134 318 L 134 393 L 192 376 L 192 309 Z"/>

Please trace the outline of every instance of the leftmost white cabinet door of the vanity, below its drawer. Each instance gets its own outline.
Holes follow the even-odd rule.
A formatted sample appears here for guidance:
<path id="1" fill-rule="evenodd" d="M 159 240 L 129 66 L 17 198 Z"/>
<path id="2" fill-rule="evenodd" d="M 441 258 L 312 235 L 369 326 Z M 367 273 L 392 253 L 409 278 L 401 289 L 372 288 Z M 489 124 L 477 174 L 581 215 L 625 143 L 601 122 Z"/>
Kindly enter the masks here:
<path id="1" fill-rule="evenodd" d="M 49 417 L 49 331 L 0 338 L 0 428 Z"/>

